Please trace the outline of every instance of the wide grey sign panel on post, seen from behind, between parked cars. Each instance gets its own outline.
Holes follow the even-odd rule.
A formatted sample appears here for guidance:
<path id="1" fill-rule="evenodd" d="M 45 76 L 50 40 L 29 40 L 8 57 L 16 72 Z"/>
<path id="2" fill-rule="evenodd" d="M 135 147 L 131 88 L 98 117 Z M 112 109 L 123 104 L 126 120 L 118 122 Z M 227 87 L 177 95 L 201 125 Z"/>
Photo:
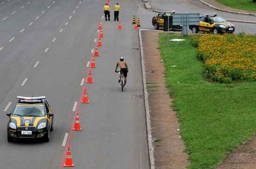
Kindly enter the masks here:
<path id="1" fill-rule="evenodd" d="M 183 36 L 188 36 L 189 25 L 199 25 L 199 13 L 172 13 L 172 25 L 182 25 Z"/>

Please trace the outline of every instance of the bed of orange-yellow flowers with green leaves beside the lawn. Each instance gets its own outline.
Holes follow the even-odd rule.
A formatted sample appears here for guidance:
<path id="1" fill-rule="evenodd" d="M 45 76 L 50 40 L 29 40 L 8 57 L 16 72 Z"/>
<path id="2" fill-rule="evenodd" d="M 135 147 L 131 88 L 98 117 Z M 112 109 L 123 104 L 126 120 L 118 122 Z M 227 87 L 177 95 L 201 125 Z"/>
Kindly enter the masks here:
<path id="1" fill-rule="evenodd" d="M 199 35 L 192 43 L 206 78 L 221 83 L 256 81 L 256 35 Z"/>

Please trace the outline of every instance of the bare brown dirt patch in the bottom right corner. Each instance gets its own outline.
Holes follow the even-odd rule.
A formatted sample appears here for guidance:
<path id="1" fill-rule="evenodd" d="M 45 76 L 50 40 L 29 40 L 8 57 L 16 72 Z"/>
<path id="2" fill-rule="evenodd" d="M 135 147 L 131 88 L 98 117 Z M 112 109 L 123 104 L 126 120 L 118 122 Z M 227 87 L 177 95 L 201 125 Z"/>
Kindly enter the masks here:
<path id="1" fill-rule="evenodd" d="M 256 138 L 229 153 L 216 169 L 256 169 Z"/>

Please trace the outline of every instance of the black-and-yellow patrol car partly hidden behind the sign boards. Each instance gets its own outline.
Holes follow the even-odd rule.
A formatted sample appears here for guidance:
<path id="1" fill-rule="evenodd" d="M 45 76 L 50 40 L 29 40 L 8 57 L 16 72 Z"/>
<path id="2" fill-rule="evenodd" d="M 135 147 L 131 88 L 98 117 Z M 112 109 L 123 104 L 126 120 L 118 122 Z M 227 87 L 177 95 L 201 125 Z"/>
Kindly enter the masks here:
<path id="1" fill-rule="evenodd" d="M 155 30 L 158 30 L 159 28 L 164 27 L 164 17 L 165 16 L 171 16 L 172 13 L 175 13 L 175 11 L 164 11 L 162 13 L 158 13 L 152 18 L 152 25 L 154 26 Z M 175 25 L 173 26 L 174 29 L 182 29 L 182 25 Z"/>

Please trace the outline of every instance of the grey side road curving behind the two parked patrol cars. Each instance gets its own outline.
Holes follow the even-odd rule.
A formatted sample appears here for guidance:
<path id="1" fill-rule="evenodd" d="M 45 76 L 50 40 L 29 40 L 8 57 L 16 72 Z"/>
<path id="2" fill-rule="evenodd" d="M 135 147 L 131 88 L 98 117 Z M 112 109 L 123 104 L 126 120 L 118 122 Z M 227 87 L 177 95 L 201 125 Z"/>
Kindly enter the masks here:
<path id="1" fill-rule="evenodd" d="M 152 9 L 160 10 L 160 11 L 176 11 L 176 13 L 200 13 L 200 15 L 204 15 L 205 13 L 216 13 L 217 15 L 223 17 L 224 19 L 232 19 L 232 20 L 247 20 L 256 22 L 255 16 L 249 15 L 241 15 L 234 13 L 226 13 L 217 11 L 209 6 L 206 6 L 199 2 L 198 0 L 148 0 Z M 148 13 L 139 9 L 139 15 L 141 16 L 143 22 L 141 23 L 144 29 L 154 29 L 152 25 L 152 17 L 157 14 L 148 11 Z M 150 16 L 150 17 L 148 17 Z M 235 33 L 246 32 L 246 33 L 256 33 L 256 24 L 248 24 L 248 23 L 238 23 L 233 22 L 236 26 Z"/>

